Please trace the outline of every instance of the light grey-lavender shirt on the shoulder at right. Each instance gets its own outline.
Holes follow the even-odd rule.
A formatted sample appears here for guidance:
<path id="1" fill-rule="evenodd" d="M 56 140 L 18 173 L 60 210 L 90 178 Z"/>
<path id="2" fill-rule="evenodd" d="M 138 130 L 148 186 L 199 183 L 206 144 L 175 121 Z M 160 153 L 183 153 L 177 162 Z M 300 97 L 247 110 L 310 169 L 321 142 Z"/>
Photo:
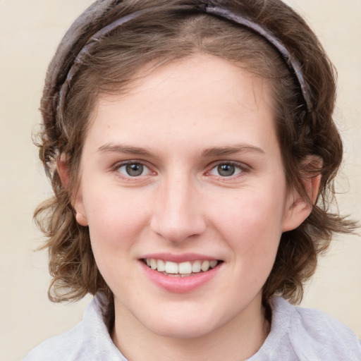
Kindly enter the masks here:
<path id="1" fill-rule="evenodd" d="M 319 310 L 295 307 L 283 298 L 272 300 L 272 310 L 269 336 L 274 336 L 275 349 L 288 348 L 295 360 L 361 360 L 360 341 L 337 319 Z"/>

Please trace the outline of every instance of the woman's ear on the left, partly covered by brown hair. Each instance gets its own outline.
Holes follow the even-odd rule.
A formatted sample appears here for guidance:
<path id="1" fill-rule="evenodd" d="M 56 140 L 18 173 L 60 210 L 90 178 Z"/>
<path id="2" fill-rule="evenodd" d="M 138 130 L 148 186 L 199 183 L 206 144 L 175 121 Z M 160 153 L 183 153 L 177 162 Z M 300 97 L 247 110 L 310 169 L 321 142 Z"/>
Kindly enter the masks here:
<path id="1" fill-rule="evenodd" d="M 63 183 L 64 188 L 69 188 L 70 184 L 70 174 L 68 161 L 66 159 L 66 154 L 62 153 L 56 162 L 56 169 L 58 170 L 61 183 Z M 76 190 L 74 197 L 71 199 L 71 204 L 75 212 L 75 219 L 80 224 L 80 226 L 87 226 L 87 217 L 85 216 L 85 208 L 82 202 L 82 190 L 81 185 L 79 185 L 78 190 Z"/>

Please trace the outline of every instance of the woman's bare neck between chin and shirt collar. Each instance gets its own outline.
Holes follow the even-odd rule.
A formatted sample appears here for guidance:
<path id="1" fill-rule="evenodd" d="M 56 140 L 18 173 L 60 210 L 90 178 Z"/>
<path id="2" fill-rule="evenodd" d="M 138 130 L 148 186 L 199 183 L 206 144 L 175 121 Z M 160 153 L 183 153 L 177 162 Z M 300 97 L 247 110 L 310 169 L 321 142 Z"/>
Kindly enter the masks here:
<path id="1" fill-rule="evenodd" d="M 202 336 L 170 338 L 155 334 L 133 314 L 116 305 L 112 338 L 128 360 L 202 361 L 247 360 L 262 346 L 269 333 L 269 322 L 259 303 L 251 312 L 238 314 L 230 322 Z M 190 326 L 191 327 L 191 326 Z"/>

